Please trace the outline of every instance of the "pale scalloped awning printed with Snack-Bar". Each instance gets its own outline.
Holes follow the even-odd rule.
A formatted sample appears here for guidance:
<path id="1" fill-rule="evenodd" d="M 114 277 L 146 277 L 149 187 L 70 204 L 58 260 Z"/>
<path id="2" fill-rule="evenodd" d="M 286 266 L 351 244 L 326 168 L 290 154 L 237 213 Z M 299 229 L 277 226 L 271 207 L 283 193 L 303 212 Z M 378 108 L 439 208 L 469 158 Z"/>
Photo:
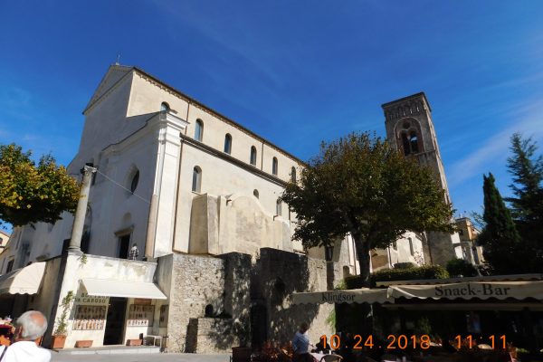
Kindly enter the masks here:
<path id="1" fill-rule="evenodd" d="M 393 298 L 433 300 L 543 300 L 543 281 L 468 281 L 433 285 L 391 285 Z"/>

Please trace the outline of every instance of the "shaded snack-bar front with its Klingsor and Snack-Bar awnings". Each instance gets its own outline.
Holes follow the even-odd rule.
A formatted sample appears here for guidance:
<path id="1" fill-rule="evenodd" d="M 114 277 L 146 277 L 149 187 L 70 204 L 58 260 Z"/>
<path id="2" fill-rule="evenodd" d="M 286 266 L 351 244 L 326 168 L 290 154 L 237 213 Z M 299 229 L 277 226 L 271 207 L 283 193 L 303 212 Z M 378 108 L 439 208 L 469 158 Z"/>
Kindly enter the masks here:
<path id="1" fill-rule="evenodd" d="M 427 335 L 457 340 L 459 348 L 543 348 L 541 274 L 377 282 L 373 289 L 294 293 L 293 302 L 336 303 L 337 330 L 366 327 L 387 342 Z"/>

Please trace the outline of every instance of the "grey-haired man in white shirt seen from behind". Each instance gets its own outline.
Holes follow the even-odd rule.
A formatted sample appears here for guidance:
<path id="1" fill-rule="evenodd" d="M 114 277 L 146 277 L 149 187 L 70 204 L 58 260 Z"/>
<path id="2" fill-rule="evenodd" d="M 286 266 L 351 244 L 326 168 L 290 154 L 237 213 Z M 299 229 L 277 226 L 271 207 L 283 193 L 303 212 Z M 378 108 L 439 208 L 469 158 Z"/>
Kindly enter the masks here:
<path id="1" fill-rule="evenodd" d="M 51 352 L 38 347 L 40 338 L 47 329 L 47 319 L 42 312 L 29 310 L 17 319 L 15 343 L 0 350 L 1 362 L 49 362 Z"/>

